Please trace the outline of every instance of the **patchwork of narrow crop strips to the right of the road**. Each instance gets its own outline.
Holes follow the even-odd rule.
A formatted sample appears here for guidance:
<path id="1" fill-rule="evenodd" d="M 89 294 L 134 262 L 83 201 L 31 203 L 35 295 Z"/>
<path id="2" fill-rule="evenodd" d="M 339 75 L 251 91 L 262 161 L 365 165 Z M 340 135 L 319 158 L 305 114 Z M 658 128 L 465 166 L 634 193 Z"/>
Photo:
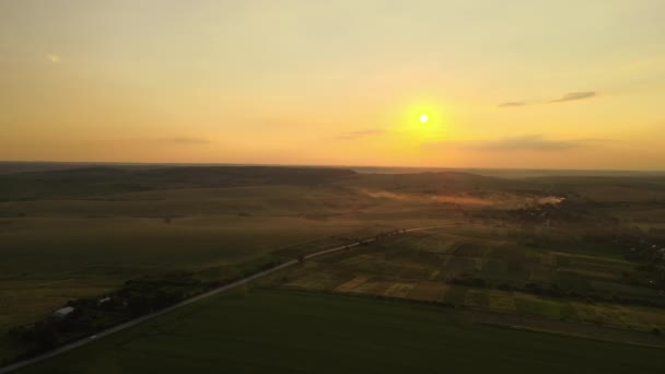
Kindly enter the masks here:
<path id="1" fill-rule="evenodd" d="M 657 289 L 630 284 L 625 274 L 634 265 L 611 252 L 518 246 L 509 233 L 459 225 L 464 230 L 451 225 L 381 238 L 313 259 L 261 284 L 416 300 L 644 335 L 665 327 L 665 297 Z"/>

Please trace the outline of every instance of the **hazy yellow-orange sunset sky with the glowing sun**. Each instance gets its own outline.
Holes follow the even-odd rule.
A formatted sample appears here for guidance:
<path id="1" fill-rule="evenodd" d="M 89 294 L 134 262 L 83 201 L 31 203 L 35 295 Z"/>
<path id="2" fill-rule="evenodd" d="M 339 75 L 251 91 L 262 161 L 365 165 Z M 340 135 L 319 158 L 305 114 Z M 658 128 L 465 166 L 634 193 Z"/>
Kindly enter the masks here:
<path id="1" fill-rule="evenodd" d="M 664 170 L 664 14 L 0 0 L 0 160 Z"/>

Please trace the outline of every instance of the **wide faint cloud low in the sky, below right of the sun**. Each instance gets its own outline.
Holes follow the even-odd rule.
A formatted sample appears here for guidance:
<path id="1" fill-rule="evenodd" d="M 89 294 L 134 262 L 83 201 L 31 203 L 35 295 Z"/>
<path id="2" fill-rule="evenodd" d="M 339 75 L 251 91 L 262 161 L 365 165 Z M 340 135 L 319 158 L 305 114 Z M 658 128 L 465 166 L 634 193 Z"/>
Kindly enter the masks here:
<path id="1" fill-rule="evenodd" d="M 605 139 L 584 138 L 571 140 L 548 139 L 542 135 L 509 137 L 490 141 L 463 141 L 430 144 L 430 147 L 455 147 L 474 151 L 564 151 L 604 142 Z"/>

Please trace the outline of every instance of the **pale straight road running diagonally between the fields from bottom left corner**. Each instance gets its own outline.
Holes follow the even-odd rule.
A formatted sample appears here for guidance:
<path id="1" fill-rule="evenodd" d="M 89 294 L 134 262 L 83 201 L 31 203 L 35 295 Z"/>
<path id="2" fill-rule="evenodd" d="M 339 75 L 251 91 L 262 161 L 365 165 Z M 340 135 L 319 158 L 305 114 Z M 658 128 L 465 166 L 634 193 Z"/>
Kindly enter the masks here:
<path id="1" fill-rule="evenodd" d="M 398 234 L 410 233 L 410 232 L 413 232 L 413 231 L 429 230 L 429 229 L 440 229 L 440 227 L 443 227 L 443 226 L 413 227 L 413 229 L 402 230 Z M 368 238 L 368 239 L 364 239 L 364 241 L 360 241 L 360 242 L 342 245 L 342 246 L 339 246 L 339 247 L 319 250 L 319 252 L 306 255 L 305 258 L 313 258 L 313 257 L 324 256 L 324 255 L 328 255 L 328 254 L 331 254 L 331 253 L 336 253 L 336 252 L 340 252 L 340 250 L 345 250 L 345 249 L 350 249 L 350 248 L 357 247 L 357 246 L 359 246 L 361 244 L 372 243 L 372 242 L 375 242 L 375 241 L 376 241 L 376 238 L 372 237 L 372 238 Z M 126 322 L 124 324 L 120 324 L 118 326 L 115 326 L 115 327 L 108 328 L 106 330 L 100 331 L 96 335 L 93 335 L 93 336 L 83 338 L 81 340 L 77 340 L 74 342 L 71 342 L 71 343 L 58 347 L 58 348 L 56 348 L 56 349 L 54 349 L 51 351 L 48 351 L 46 353 L 36 355 L 36 357 L 32 358 L 32 359 L 19 361 L 19 362 L 15 362 L 15 363 L 11 364 L 11 365 L 0 367 L 0 374 L 5 374 L 5 373 L 9 373 L 9 372 L 19 370 L 21 367 L 25 367 L 25 366 L 35 364 L 37 362 L 50 359 L 50 358 L 56 357 L 58 354 L 65 353 L 67 351 L 71 351 L 72 349 L 77 349 L 77 348 L 79 348 L 81 346 L 85 346 L 85 344 L 91 343 L 93 341 L 100 340 L 100 339 L 102 339 L 104 337 L 107 337 L 107 336 L 114 334 L 114 332 L 118 332 L 118 331 L 125 330 L 125 329 L 130 328 L 132 326 L 137 326 L 137 325 L 139 325 L 141 323 L 144 323 L 145 320 L 152 319 L 154 317 L 158 317 L 158 316 L 161 316 L 163 314 L 166 314 L 166 313 L 170 313 L 172 311 L 175 311 L 177 308 L 180 308 L 180 307 L 183 307 L 185 305 L 189 305 L 191 303 L 196 303 L 199 300 L 207 299 L 207 297 L 217 295 L 218 293 L 222 293 L 224 291 L 229 291 L 231 289 L 234 289 L 234 288 L 236 288 L 238 285 L 249 283 L 253 280 L 266 277 L 266 276 L 268 276 L 268 274 L 270 274 L 272 272 L 276 272 L 276 271 L 281 270 L 283 268 L 288 268 L 288 267 L 293 266 L 293 265 L 295 265 L 298 262 L 300 262 L 300 261 L 298 259 L 294 259 L 294 260 L 290 260 L 288 262 L 283 262 L 283 264 L 277 265 L 277 266 L 275 266 L 275 267 L 272 267 L 270 269 L 257 272 L 257 273 L 255 273 L 253 276 L 249 276 L 247 278 L 243 278 L 241 280 L 237 280 L 237 281 L 235 281 L 233 283 L 229 283 L 229 284 L 219 287 L 219 288 L 217 288 L 214 290 L 208 291 L 206 293 L 201 293 L 200 295 L 194 296 L 191 299 L 184 300 L 184 301 L 182 301 L 182 302 L 179 302 L 179 303 L 177 303 L 175 305 L 168 306 L 168 307 L 163 308 L 161 311 L 147 314 L 144 316 L 141 316 L 141 317 L 128 320 L 128 322 Z"/>

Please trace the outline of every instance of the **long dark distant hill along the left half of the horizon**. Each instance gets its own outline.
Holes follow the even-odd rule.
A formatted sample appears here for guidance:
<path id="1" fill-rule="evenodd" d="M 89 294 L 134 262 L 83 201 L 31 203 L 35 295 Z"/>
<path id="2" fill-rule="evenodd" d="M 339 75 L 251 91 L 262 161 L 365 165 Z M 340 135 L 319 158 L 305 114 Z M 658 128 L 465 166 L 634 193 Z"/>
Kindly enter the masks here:
<path id="1" fill-rule="evenodd" d="M 0 200 L 85 197 L 152 189 L 310 185 L 357 175 L 351 170 L 281 166 L 90 166 L 0 175 Z"/>

